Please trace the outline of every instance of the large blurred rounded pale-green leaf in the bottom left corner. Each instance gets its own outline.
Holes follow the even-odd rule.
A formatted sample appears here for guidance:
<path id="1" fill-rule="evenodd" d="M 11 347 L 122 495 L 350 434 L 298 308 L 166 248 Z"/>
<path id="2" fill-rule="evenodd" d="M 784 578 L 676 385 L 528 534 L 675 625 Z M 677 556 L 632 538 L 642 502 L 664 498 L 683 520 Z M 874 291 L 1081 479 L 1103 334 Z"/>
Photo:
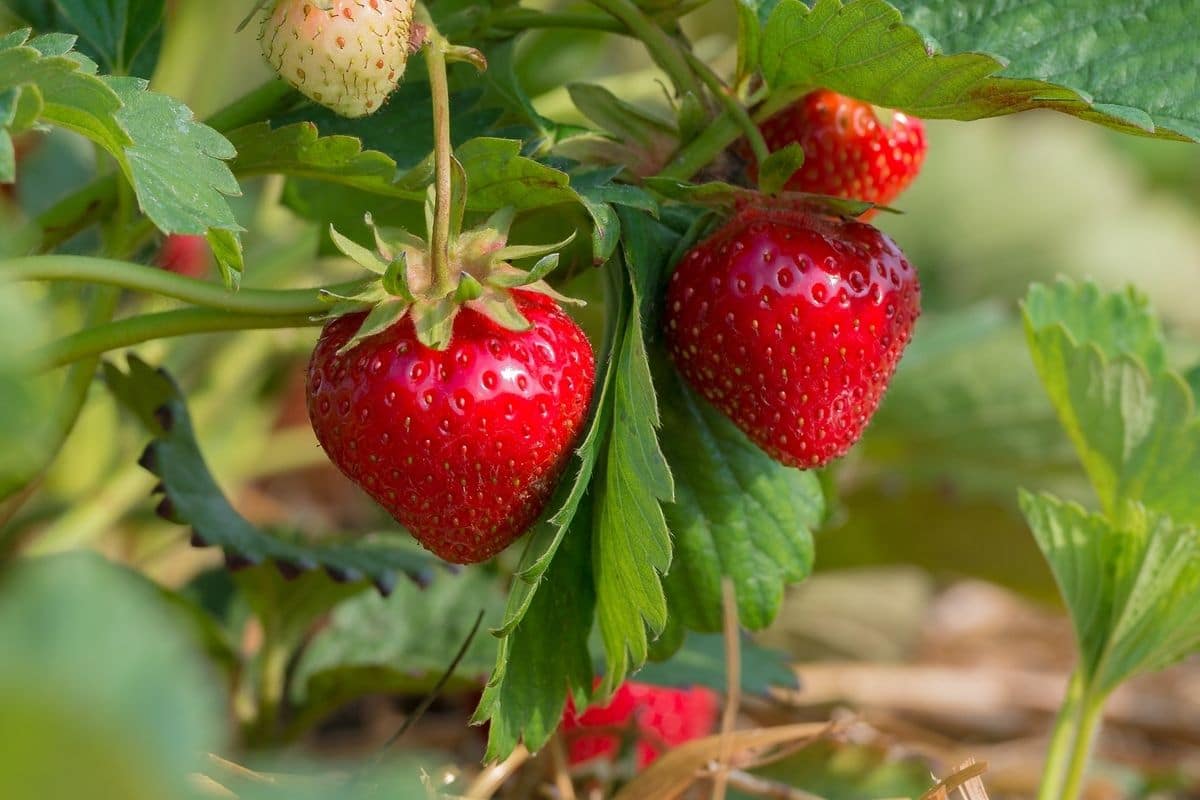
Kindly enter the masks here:
<path id="1" fill-rule="evenodd" d="M 191 796 L 223 702 L 157 593 L 91 553 L 18 561 L 2 589 L 5 798 Z"/>

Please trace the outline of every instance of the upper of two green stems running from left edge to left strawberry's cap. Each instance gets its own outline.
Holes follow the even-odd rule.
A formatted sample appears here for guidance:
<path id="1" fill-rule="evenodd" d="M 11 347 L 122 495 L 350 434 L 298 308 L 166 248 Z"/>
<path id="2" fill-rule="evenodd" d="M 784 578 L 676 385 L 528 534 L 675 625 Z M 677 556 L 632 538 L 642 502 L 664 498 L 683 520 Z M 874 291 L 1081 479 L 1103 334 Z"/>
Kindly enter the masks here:
<path id="1" fill-rule="evenodd" d="M 313 289 L 241 289 L 222 285 L 130 261 L 85 255 L 28 255 L 0 260 L 0 281 L 82 281 L 146 291 L 182 300 L 193 306 L 241 314 L 323 314 L 329 305 L 320 297 L 328 290 L 350 295 L 362 288 L 359 281 Z"/>

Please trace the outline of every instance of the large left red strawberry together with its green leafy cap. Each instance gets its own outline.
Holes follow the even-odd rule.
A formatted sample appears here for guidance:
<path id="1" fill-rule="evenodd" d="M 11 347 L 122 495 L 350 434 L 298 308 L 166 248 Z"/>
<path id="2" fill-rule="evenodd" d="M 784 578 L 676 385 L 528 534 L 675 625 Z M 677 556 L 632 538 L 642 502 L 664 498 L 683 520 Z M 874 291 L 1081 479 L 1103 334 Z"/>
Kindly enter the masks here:
<path id="1" fill-rule="evenodd" d="M 558 246 L 505 248 L 509 222 L 500 212 L 455 236 L 457 288 L 440 290 L 408 234 L 394 243 L 377 231 L 374 255 L 335 233 L 384 277 L 341 299 L 348 313 L 325 325 L 308 365 L 308 416 L 325 453 L 456 564 L 491 558 L 541 513 L 595 384 L 592 345 L 540 281 L 557 254 L 528 273 L 504 261 Z"/>

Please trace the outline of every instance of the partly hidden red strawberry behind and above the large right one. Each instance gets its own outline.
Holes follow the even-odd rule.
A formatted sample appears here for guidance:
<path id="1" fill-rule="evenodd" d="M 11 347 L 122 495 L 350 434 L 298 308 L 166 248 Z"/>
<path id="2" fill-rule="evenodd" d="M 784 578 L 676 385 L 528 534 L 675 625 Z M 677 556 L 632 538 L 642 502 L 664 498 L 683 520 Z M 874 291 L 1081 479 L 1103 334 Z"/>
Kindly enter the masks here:
<path id="1" fill-rule="evenodd" d="M 772 151 L 792 143 L 804 149 L 804 166 L 786 186 L 793 192 L 887 205 L 912 184 L 925 161 L 925 126 L 919 119 L 896 112 L 886 126 L 869 103 L 827 89 L 772 116 L 762 134 Z"/>

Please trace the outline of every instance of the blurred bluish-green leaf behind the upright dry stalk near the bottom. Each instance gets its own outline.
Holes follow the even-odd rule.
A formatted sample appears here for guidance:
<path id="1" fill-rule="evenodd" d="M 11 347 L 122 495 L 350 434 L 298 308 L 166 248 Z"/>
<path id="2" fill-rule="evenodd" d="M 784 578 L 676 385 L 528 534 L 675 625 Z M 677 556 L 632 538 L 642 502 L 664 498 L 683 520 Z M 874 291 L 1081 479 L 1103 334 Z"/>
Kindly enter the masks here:
<path id="1" fill-rule="evenodd" d="M 769 694 L 773 687 L 798 688 L 790 656 L 740 637 L 742 691 Z M 636 679 L 658 686 L 708 686 L 724 692 L 728 686 L 725 637 L 720 633 L 692 633 L 668 661 L 649 662 Z"/>

